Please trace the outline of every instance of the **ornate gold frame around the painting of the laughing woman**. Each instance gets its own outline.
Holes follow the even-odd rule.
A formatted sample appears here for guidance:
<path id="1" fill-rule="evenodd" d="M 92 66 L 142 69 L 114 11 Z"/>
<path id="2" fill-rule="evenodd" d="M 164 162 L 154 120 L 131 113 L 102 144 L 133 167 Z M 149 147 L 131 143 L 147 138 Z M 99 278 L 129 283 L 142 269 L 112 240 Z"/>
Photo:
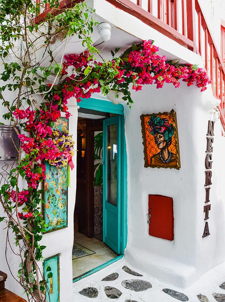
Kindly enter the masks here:
<path id="1" fill-rule="evenodd" d="M 149 160 L 148 160 L 148 150 L 147 150 L 147 144 L 146 144 L 146 127 L 145 127 L 145 121 L 144 119 L 146 117 L 151 117 L 151 116 L 162 116 L 162 115 L 168 115 L 168 119 L 170 120 L 170 123 L 172 123 L 173 125 L 173 128 L 174 128 L 174 134 L 173 134 L 173 137 L 175 139 L 175 151 L 176 151 L 176 156 L 177 156 L 177 164 L 174 165 L 174 166 L 169 166 L 167 164 L 165 165 L 151 165 Z M 171 120 L 172 118 L 172 120 Z M 144 161 L 145 161 L 145 168 L 147 167 L 151 167 L 151 168 L 170 168 L 170 169 L 177 169 L 179 170 L 180 167 L 181 167 L 181 164 L 180 164 L 180 151 L 179 151 L 179 141 L 178 141 L 178 129 L 177 129 L 177 117 L 176 117 L 176 112 L 172 109 L 170 112 L 159 112 L 158 114 L 142 114 L 140 116 L 140 119 L 141 119 L 141 132 L 142 132 L 142 138 L 143 138 L 143 146 L 144 146 Z"/>

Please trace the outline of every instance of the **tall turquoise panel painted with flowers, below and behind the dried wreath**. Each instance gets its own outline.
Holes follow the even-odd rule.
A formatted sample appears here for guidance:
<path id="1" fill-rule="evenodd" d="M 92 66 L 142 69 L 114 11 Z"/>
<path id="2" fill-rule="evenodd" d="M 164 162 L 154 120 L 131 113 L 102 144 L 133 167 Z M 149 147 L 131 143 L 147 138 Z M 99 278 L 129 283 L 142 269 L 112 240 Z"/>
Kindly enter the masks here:
<path id="1" fill-rule="evenodd" d="M 68 119 L 60 117 L 53 129 L 68 130 Z M 49 233 L 67 227 L 68 223 L 68 188 L 67 167 L 56 168 L 45 162 L 46 172 L 43 193 L 43 218 L 48 225 L 43 233 Z"/>

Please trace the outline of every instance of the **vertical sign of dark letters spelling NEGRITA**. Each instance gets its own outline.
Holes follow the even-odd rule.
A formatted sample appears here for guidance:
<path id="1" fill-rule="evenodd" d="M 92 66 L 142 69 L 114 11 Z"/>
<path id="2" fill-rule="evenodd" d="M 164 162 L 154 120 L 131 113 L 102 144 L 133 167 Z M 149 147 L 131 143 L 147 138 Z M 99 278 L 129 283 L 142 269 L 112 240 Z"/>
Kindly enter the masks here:
<path id="1" fill-rule="evenodd" d="M 211 210 L 211 204 L 209 204 L 210 200 L 209 200 L 209 191 L 210 191 L 210 186 L 212 185 L 212 158 L 213 158 L 213 147 L 212 144 L 214 142 L 214 121 L 209 120 L 208 121 L 208 132 L 206 134 L 206 156 L 205 156 L 205 204 L 204 205 L 204 213 L 205 213 L 205 218 L 204 220 L 208 220 L 209 219 L 209 211 Z M 202 237 L 206 237 L 209 236 L 209 225 L 208 222 L 205 222 L 205 227 L 204 227 L 204 232 Z"/>

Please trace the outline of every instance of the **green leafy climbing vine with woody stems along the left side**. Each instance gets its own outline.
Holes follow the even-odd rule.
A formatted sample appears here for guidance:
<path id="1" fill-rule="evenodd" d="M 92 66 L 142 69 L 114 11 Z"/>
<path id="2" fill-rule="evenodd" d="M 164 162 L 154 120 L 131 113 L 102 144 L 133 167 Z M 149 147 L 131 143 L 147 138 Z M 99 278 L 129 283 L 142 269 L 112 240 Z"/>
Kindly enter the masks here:
<path id="1" fill-rule="evenodd" d="M 38 15 L 48 6 L 48 13 L 43 19 Z M 40 118 L 40 108 L 48 111 L 45 102 L 39 101 L 40 96 L 35 92 L 43 92 L 48 77 L 53 73 L 56 76 L 62 71 L 62 64 L 56 63 L 51 44 L 53 39 L 60 37 L 65 39 L 76 35 L 90 52 L 93 58 L 94 52 L 98 50 L 92 46 L 90 34 L 93 26 L 97 23 L 92 18 L 93 10 L 87 8 L 85 3 L 75 4 L 73 8 L 65 8 L 57 11 L 58 0 L 41 0 L 36 3 L 32 0 L 1 0 L 0 1 L 0 57 L 4 70 L 0 75 L 0 99 L 7 108 L 3 115 L 9 120 L 14 130 L 18 132 L 18 125 L 21 130 L 26 131 L 26 122 L 19 120 L 13 114 L 14 111 L 27 108 L 35 110 L 35 120 Z M 57 13 L 53 13 L 54 11 Z M 36 53 L 44 50 L 50 57 L 49 66 L 41 66 L 41 59 L 38 61 Z M 35 87 L 35 88 L 34 88 Z M 35 91 L 36 90 L 36 91 Z M 53 100 L 54 89 L 45 96 Z M 14 98 L 9 100 L 6 94 L 11 93 Z M 60 104 L 59 104 L 60 105 Z M 63 108 L 59 108 L 63 111 Z M 53 126 L 53 124 L 49 124 Z M 32 133 L 31 133 L 32 137 Z M 35 137 L 35 135 L 34 135 Z M 42 189 L 28 187 L 27 202 L 20 204 L 18 199 L 19 179 L 26 179 L 24 167 L 30 165 L 33 173 L 41 174 L 42 169 L 32 163 L 35 159 L 37 149 L 31 154 L 24 156 L 21 146 L 18 149 L 18 158 L 13 166 L 6 166 L 7 178 L 2 178 L 0 186 L 0 202 L 6 213 L 6 217 L 0 217 L 0 222 L 5 221 L 8 229 L 14 233 L 15 245 L 18 247 L 18 255 L 21 258 L 21 265 L 18 271 L 18 278 L 21 286 L 27 293 L 29 301 L 46 301 L 46 282 L 52 277 L 51 268 L 47 268 L 47 276 L 42 276 L 42 269 L 38 262 L 43 258 L 42 251 L 45 246 L 40 244 L 43 228 L 46 227 L 41 213 L 43 203 Z M 42 177 L 38 180 L 42 182 Z M 15 192 L 14 200 L 11 198 Z M 32 217 L 19 217 L 18 208 L 23 207 L 24 213 L 31 213 Z M 9 232 L 7 232 L 9 242 Z M 11 243 L 9 243 L 11 246 Z"/>

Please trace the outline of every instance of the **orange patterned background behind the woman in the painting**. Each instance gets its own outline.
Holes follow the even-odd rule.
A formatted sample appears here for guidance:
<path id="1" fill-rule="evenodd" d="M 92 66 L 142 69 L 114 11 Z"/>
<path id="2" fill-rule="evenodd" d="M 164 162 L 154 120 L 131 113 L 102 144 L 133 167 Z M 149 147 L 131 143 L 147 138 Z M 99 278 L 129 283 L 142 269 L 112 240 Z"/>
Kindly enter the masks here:
<path id="1" fill-rule="evenodd" d="M 171 114 L 170 118 L 169 118 L 169 113 L 168 114 L 161 114 L 161 115 L 156 114 L 156 116 L 161 117 L 161 118 L 166 117 L 169 120 L 169 123 L 174 126 L 174 120 L 173 120 L 172 114 Z M 149 125 L 148 125 L 149 119 L 150 119 L 150 115 L 143 117 L 145 139 L 146 139 L 147 165 L 150 165 L 151 157 L 153 155 L 159 153 L 159 151 L 160 151 L 156 146 L 155 139 L 154 139 L 153 135 L 151 135 L 148 131 L 149 130 Z M 175 142 L 174 135 L 172 136 L 172 143 L 168 148 L 172 153 L 177 154 L 177 152 L 176 152 L 176 142 Z"/>

